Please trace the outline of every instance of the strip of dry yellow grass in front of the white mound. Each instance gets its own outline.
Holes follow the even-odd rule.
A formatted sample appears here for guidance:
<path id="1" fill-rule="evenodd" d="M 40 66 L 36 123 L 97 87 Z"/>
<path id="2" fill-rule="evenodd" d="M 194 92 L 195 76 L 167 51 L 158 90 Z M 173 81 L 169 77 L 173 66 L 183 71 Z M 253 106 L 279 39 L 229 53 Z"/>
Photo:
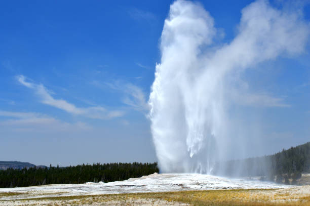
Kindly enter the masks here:
<path id="1" fill-rule="evenodd" d="M 310 206 L 310 186 L 27 198 L 0 193 L 0 205 L 241 205 Z M 10 197 L 10 200 L 8 199 Z M 16 199 L 14 198 L 16 197 Z M 24 197 L 23 199 L 18 199 Z M 6 199 L 6 200 L 5 200 Z"/>

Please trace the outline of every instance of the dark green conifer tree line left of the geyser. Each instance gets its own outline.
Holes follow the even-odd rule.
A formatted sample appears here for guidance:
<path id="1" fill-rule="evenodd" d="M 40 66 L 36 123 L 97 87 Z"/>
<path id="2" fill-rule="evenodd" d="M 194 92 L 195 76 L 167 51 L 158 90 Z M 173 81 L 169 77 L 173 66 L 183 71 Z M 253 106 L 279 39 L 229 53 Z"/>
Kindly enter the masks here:
<path id="1" fill-rule="evenodd" d="M 26 187 L 46 184 L 113 182 L 158 173 L 153 163 L 82 164 L 69 167 L 0 170 L 0 187 Z"/>

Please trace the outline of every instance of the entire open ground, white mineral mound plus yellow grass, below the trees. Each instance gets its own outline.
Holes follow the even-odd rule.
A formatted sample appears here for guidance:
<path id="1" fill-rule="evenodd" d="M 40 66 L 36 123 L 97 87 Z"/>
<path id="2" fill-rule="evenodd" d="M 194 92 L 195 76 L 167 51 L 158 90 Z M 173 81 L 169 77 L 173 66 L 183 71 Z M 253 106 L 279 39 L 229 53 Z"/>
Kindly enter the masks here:
<path id="1" fill-rule="evenodd" d="M 199 174 L 153 174 L 111 183 L 0 188 L 1 205 L 310 206 L 310 186 Z"/>

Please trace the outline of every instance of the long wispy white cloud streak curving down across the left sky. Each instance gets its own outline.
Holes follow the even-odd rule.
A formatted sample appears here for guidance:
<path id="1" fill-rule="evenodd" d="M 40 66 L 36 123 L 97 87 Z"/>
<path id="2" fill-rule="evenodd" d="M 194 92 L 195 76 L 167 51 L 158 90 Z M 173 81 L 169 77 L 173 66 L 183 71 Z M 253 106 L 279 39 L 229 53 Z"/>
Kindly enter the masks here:
<path id="1" fill-rule="evenodd" d="M 35 94 L 40 98 L 40 101 L 43 104 L 56 107 L 58 109 L 64 110 L 73 115 L 81 115 L 88 118 L 95 119 L 108 119 L 114 117 L 120 117 L 124 115 L 123 111 L 113 110 L 108 111 L 107 109 L 101 106 L 95 107 L 76 107 L 74 104 L 68 103 L 63 99 L 55 99 L 52 97 L 51 93 L 42 85 L 35 84 L 27 81 L 26 77 L 19 75 L 16 77 L 20 84 L 23 86 L 32 89 Z"/>

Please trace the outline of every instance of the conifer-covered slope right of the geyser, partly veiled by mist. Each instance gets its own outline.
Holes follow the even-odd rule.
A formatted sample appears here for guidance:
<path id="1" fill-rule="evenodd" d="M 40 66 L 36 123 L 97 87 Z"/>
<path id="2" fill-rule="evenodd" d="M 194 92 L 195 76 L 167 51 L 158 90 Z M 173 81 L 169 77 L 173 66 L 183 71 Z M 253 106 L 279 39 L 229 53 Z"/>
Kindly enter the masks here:
<path id="1" fill-rule="evenodd" d="M 273 155 L 218 163 L 215 173 L 225 176 L 260 176 L 261 180 L 295 183 L 301 173 L 310 173 L 310 142 L 283 149 Z"/>

